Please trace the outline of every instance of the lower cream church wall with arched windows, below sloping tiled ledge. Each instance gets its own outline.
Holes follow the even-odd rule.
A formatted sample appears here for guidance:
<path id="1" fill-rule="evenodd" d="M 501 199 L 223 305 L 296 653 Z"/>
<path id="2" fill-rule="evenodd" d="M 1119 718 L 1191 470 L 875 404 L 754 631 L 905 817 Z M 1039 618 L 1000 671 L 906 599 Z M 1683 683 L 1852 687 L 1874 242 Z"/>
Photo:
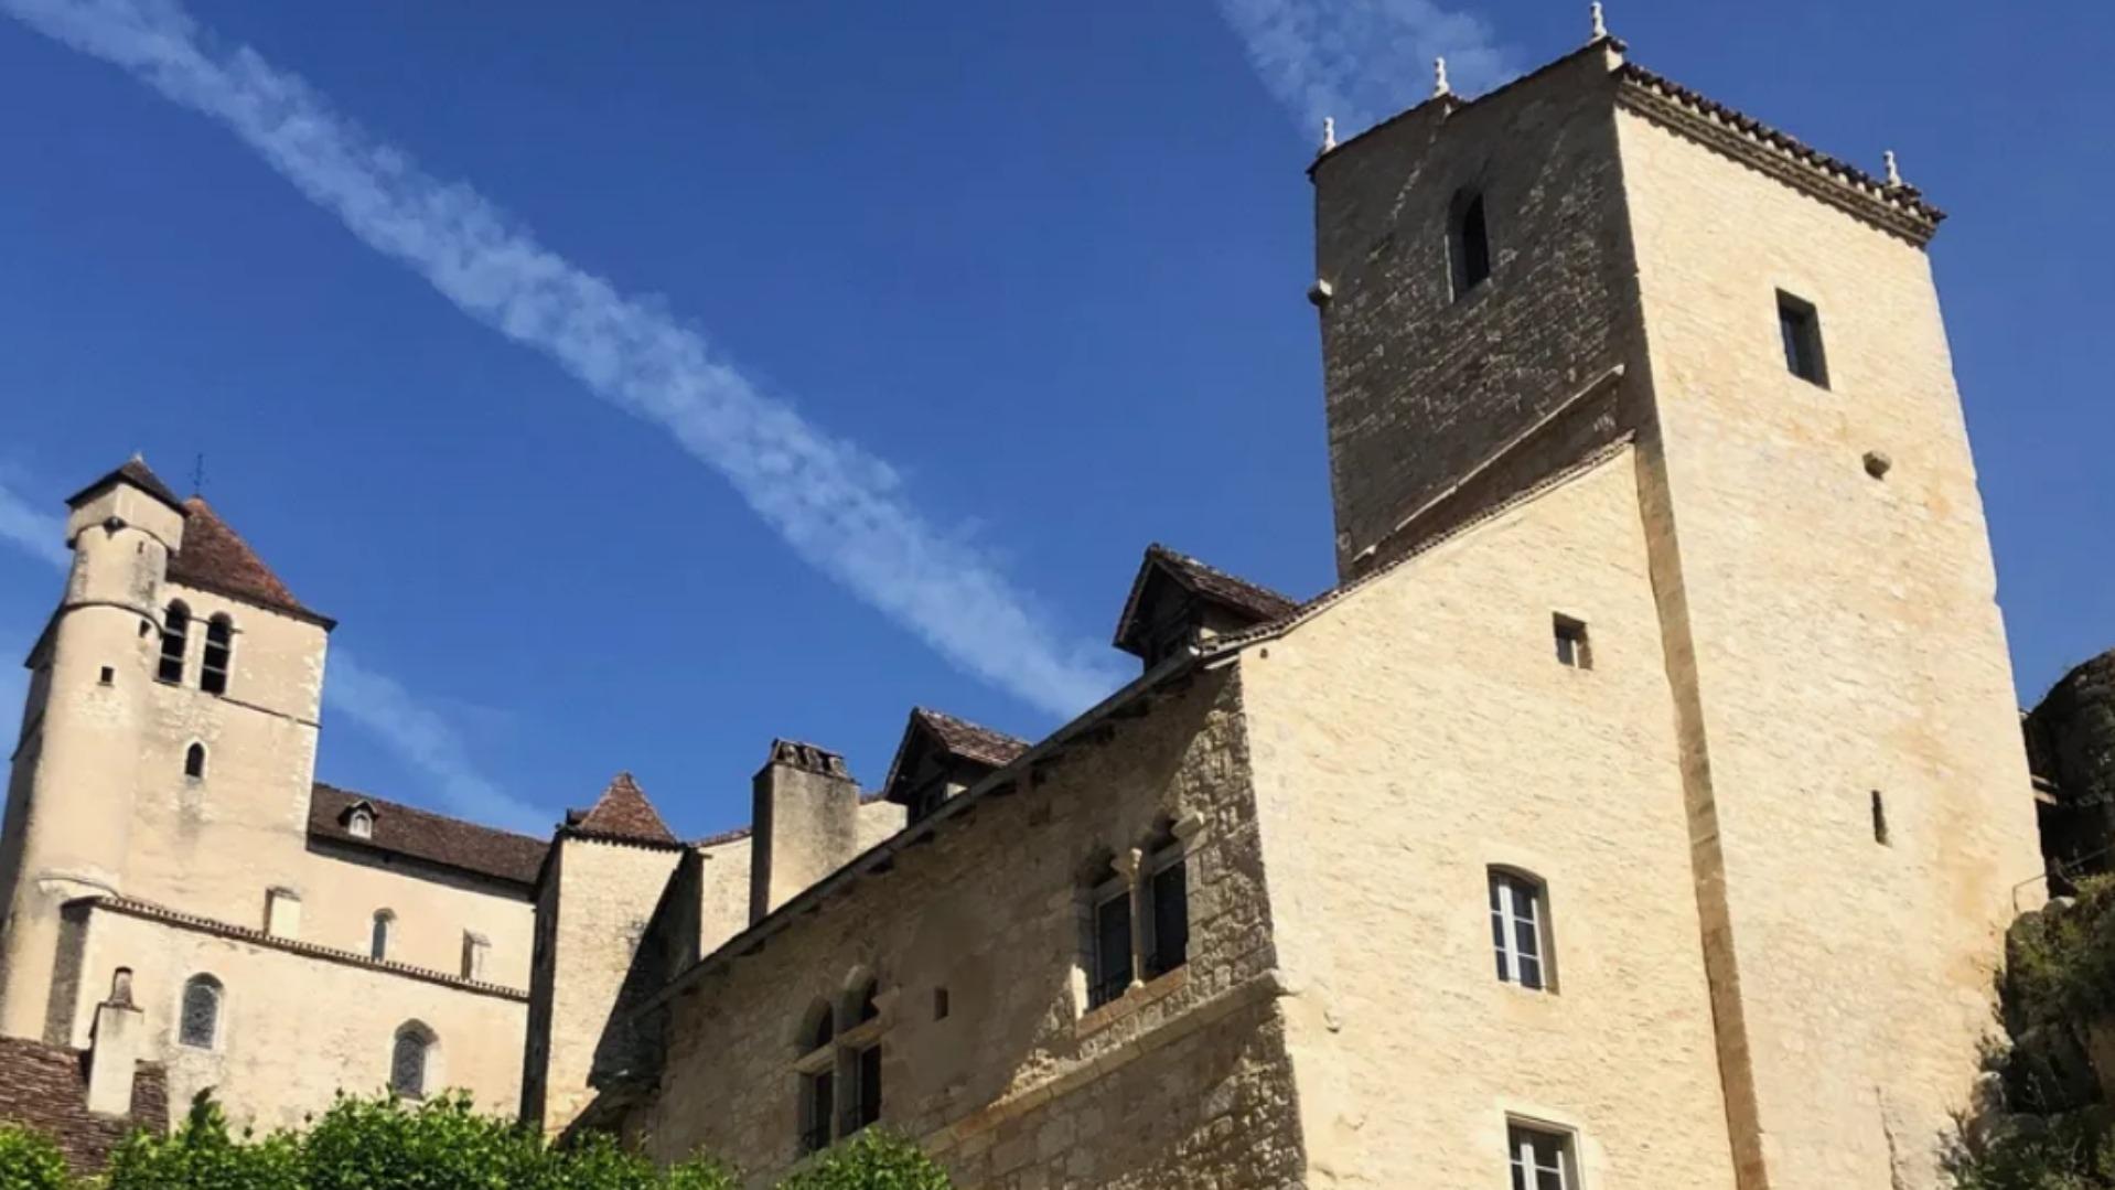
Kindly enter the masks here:
<path id="1" fill-rule="evenodd" d="M 146 1012 L 142 1057 L 167 1065 L 176 1110 L 212 1086 L 237 1122 L 300 1124 L 330 1108 L 341 1089 L 385 1089 L 396 1034 L 408 1021 L 438 1038 L 429 1089 L 467 1089 L 493 1110 L 510 1110 L 520 1093 L 525 1004 L 497 989 L 472 991 L 108 909 L 80 915 L 76 928 L 80 1025 L 72 1044 L 89 1044 L 93 1004 L 110 989 L 110 972 L 133 968 L 133 996 Z M 212 1048 L 178 1042 L 182 987 L 201 972 L 224 987 Z"/>

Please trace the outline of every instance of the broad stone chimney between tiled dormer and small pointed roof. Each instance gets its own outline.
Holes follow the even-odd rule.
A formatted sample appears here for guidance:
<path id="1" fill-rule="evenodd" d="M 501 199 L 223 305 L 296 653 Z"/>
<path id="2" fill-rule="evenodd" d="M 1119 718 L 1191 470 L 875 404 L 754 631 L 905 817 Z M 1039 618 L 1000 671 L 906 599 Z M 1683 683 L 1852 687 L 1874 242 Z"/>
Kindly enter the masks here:
<path id="1" fill-rule="evenodd" d="M 859 854 L 859 782 L 838 752 L 772 740 L 753 791 L 751 924 Z"/>

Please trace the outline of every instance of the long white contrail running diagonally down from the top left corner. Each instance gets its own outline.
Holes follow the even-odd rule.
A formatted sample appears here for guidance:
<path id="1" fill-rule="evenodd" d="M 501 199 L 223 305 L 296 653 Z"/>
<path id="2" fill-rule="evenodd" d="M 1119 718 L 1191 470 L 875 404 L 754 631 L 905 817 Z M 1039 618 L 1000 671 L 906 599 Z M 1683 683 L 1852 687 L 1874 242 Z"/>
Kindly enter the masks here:
<path id="1" fill-rule="evenodd" d="M 884 461 L 764 395 L 698 332 L 552 254 L 476 190 L 376 142 L 298 76 L 214 42 L 173 0 L 0 0 L 0 11 L 233 129 L 370 247 L 664 427 L 802 558 L 952 664 L 1058 714 L 1117 685 L 1102 651 L 1060 643 L 981 550 L 935 531 Z"/>

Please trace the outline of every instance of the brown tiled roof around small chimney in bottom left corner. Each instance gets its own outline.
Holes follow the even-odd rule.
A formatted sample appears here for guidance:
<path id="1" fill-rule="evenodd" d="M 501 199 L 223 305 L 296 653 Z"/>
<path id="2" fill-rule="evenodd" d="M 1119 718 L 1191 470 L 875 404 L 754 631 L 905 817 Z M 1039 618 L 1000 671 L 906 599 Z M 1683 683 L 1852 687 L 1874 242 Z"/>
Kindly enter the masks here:
<path id="1" fill-rule="evenodd" d="M 0 1122 L 27 1124 L 59 1143 L 78 1175 L 102 1173 L 133 1129 L 169 1129 L 163 1067 L 140 1063 L 129 1116 L 89 1112 L 87 1055 L 23 1038 L 0 1038 Z"/>

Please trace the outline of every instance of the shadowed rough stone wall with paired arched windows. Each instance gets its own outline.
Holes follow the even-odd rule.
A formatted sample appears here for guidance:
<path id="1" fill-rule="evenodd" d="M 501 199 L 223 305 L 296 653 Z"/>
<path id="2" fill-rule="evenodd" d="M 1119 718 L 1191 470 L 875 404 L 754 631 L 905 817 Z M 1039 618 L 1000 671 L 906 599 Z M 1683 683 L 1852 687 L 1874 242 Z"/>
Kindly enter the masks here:
<path id="1" fill-rule="evenodd" d="M 958 803 L 886 873 L 736 938 L 668 1006 L 649 1152 L 768 1184 L 797 1156 L 802 1029 L 880 981 L 882 1124 L 969 1188 L 1299 1184 L 1239 691 L 1197 678 L 1009 795 Z M 1083 892 L 1193 818 L 1189 964 L 1085 1012 Z M 920 831 L 924 826 L 914 826 Z M 937 991 L 948 993 L 939 1017 Z"/>

